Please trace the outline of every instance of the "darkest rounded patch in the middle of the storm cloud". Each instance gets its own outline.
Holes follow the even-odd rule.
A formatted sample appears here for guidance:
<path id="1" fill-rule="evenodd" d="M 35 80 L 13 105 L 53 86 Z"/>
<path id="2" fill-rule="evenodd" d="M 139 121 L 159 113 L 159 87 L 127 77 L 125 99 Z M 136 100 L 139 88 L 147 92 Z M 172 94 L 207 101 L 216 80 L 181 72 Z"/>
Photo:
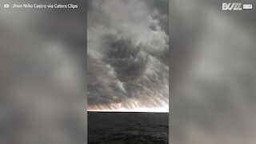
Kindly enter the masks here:
<path id="1" fill-rule="evenodd" d="M 104 60 L 113 66 L 122 82 L 127 82 L 145 73 L 148 57 L 143 54 L 142 47 L 135 47 L 130 39 L 108 38 Z"/>

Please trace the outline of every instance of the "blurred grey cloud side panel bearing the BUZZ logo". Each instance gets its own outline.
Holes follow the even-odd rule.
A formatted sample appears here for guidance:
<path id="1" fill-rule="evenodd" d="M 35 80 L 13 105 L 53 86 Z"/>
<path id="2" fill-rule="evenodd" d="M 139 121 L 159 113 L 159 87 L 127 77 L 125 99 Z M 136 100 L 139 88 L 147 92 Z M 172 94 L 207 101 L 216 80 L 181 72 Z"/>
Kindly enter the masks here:
<path id="1" fill-rule="evenodd" d="M 254 6 L 170 1 L 170 143 L 256 142 Z"/>

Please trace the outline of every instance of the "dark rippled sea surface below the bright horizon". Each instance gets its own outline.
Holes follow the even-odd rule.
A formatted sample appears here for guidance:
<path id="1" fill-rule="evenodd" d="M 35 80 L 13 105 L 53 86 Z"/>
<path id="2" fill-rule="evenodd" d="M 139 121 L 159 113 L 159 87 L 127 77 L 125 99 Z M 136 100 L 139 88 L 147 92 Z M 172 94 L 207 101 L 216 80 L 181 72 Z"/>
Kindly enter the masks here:
<path id="1" fill-rule="evenodd" d="M 167 113 L 88 112 L 89 144 L 167 144 Z"/>

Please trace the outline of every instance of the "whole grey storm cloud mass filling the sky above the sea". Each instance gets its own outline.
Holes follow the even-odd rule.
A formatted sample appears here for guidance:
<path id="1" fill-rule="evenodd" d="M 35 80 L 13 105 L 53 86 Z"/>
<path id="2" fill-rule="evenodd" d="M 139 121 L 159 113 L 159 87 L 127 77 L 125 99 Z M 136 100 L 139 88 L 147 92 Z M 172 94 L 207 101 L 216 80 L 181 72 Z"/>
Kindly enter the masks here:
<path id="1" fill-rule="evenodd" d="M 168 23 L 162 20 L 168 13 L 161 9 L 167 1 L 89 3 L 89 109 L 168 106 Z"/>

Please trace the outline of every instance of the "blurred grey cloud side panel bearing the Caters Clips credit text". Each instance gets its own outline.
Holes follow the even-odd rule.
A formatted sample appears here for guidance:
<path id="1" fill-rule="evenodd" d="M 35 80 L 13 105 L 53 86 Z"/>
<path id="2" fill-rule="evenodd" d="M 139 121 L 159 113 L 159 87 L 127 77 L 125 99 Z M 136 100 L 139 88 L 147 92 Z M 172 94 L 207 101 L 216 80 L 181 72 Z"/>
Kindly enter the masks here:
<path id="1" fill-rule="evenodd" d="M 3 9 L 9 3 L 76 10 Z M 0 143 L 86 142 L 86 1 L 0 2 Z"/>

